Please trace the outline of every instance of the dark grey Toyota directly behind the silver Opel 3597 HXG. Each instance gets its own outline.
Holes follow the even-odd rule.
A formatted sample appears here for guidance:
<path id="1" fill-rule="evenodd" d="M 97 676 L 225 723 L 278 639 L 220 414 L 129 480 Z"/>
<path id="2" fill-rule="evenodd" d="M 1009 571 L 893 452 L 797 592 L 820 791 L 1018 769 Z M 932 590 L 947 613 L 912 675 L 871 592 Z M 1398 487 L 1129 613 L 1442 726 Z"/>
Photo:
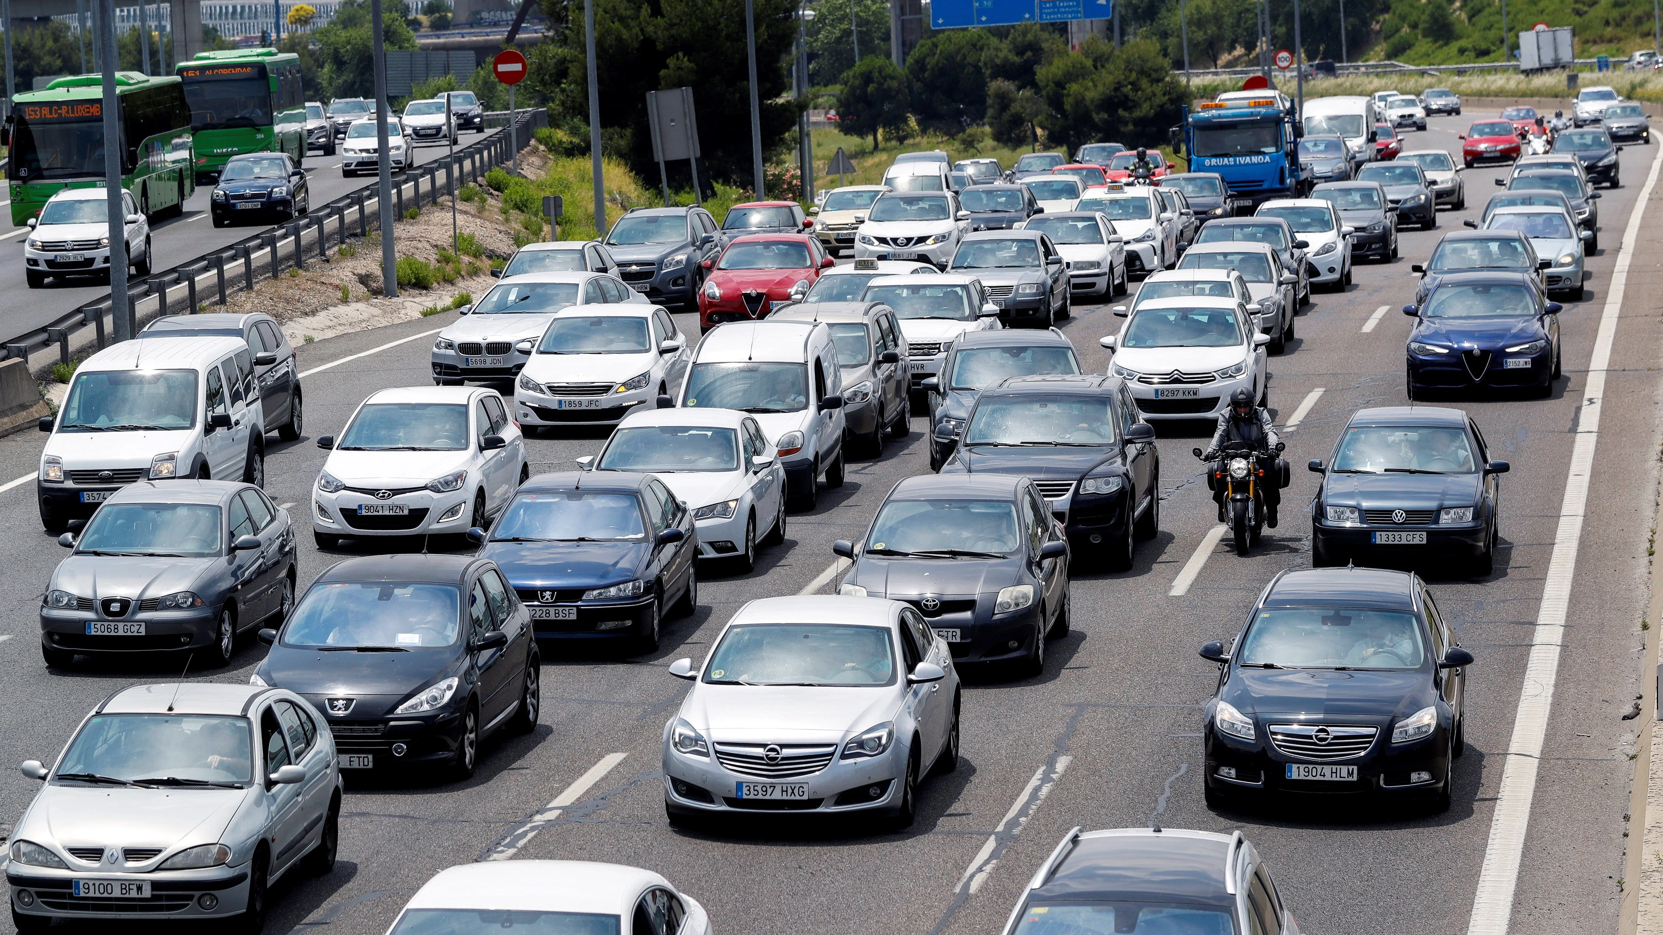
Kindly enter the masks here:
<path id="1" fill-rule="evenodd" d="M 918 608 L 955 663 L 1044 669 L 1044 641 L 1068 633 L 1068 538 L 1026 477 L 920 475 L 896 483 L 838 590 Z"/>

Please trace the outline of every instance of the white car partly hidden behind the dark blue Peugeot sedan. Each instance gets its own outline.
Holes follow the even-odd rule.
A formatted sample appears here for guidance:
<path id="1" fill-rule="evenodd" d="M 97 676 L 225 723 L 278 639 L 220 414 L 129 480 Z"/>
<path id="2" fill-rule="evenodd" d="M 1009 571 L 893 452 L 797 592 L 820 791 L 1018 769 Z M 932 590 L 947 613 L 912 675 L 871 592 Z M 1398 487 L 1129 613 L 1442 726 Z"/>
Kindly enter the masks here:
<path id="1" fill-rule="evenodd" d="M 757 417 L 733 409 L 649 409 L 632 414 L 594 470 L 657 475 L 693 508 L 698 558 L 732 561 L 748 573 L 757 545 L 785 541 L 785 467 Z"/>

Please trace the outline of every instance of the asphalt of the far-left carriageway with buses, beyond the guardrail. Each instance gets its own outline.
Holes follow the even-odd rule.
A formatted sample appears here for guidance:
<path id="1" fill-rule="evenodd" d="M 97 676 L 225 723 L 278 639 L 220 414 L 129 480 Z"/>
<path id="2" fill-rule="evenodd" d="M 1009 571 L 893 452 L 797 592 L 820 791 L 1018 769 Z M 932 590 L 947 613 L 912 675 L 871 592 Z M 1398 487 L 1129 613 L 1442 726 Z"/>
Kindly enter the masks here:
<path id="1" fill-rule="evenodd" d="M 499 131 L 486 131 L 486 135 L 491 133 Z M 457 138 L 456 148 L 461 149 L 476 140 L 481 140 L 481 135 L 464 133 Z M 417 166 L 442 159 L 447 153 L 444 146 L 416 146 L 414 151 Z M 321 208 L 361 188 L 376 186 L 374 176 L 341 176 L 339 149 L 336 153 L 336 156 L 324 156 L 323 151 L 313 151 L 303 161 L 306 179 L 311 186 L 313 208 Z M 402 176 L 392 178 L 397 181 Z M 156 251 L 156 259 L 151 264 L 153 272 L 173 269 L 211 249 L 241 242 L 271 226 L 271 221 L 259 221 L 254 224 L 215 228 L 208 219 L 208 193 L 211 191 L 211 184 L 200 184 L 196 186 L 196 194 L 185 203 L 185 213 L 180 218 L 151 221 L 150 239 L 151 247 Z M 0 201 L 0 208 L 8 208 L 8 201 Z M 28 289 L 23 277 L 23 239 L 27 233 L 28 228 L 12 224 L 10 209 L 0 214 L 0 296 L 12 296 L 10 301 L 0 304 L 0 339 L 20 337 L 45 327 L 85 302 L 110 294 L 108 284 L 90 277 L 50 279 L 43 289 Z M 130 282 L 140 284 L 143 277 L 135 276 Z"/>

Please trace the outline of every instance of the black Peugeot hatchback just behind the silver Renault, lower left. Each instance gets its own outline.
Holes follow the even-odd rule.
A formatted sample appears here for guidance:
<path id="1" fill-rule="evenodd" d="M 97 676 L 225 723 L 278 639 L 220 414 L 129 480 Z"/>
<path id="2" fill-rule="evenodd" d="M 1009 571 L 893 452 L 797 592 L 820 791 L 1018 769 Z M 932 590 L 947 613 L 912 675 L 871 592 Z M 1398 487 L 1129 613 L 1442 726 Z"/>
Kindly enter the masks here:
<path id="1" fill-rule="evenodd" d="M 343 771 L 436 767 L 467 779 L 481 737 L 540 711 L 530 614 L 496 563 L 349 558 L 313 581 L 249 678 L 323 712 Z"/>

